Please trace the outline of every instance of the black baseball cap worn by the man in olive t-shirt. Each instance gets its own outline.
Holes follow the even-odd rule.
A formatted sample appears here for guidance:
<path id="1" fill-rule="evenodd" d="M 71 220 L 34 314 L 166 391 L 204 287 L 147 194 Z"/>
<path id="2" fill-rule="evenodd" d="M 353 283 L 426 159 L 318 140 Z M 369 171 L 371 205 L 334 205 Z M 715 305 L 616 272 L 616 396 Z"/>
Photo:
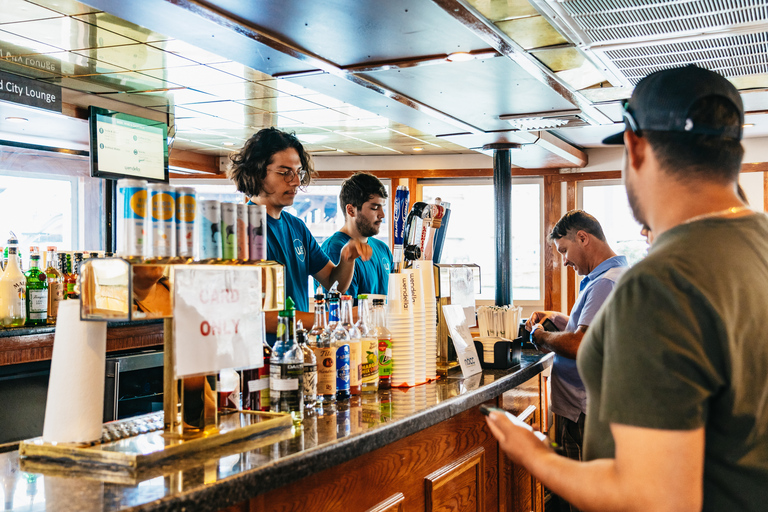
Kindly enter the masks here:
<path id="1" fill-rule="evenodd" d="M 739 112 L 739 123 L 728 126 L 695 124 L 689 117 L 697 101 L 721 96 Z M 624 103 L 626 129 L 638 135 L 642 130 L 683 132 L 741 140 L 744 105 L 736 87 L 721 75 L 694 65 L 656 71 L 643 78 Z M 624 144 L 624 132 L 603 139 L 603 144 Z"/>

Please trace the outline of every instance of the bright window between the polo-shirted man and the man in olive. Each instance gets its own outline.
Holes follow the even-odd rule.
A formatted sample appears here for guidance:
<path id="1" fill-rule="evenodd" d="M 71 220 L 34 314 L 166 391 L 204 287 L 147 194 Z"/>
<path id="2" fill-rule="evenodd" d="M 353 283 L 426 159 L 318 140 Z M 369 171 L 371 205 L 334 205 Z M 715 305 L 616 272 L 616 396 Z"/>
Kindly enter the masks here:
<path id="1" fill-rule="evenodd" d="M 648 252 L 642 226 L 632 216 L 627 192 L 620 180 L 602 180 L 579 184 L 581 208 L 603 226 L 605 238 L 616 254 L 623 254 L 634 265 Z"/>

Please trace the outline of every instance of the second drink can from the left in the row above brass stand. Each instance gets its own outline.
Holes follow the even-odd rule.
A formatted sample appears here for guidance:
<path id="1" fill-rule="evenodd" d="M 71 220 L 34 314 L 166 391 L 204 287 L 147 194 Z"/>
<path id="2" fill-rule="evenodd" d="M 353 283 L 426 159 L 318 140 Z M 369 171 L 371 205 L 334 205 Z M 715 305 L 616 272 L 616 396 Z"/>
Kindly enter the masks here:
<path id="1" fill-rule="evenodd" d="M 173 187 L 165 183 L 147 185 L 151 215 L 144 244 L 147 258 L 176 256 L 176 198 Z"/>

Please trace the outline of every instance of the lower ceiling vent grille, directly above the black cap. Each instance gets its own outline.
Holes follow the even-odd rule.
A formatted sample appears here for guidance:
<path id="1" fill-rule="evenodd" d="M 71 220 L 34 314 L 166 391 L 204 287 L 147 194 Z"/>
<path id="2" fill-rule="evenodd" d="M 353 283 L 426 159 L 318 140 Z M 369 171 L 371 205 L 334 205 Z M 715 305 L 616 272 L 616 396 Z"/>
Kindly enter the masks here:
<path id="1" fill-rule="evenodd" d="M 607 50 L 605 56 L 636 85 L 644 76 L 696 64 L 725 77 L 768 73 L 768 32 Z"/>

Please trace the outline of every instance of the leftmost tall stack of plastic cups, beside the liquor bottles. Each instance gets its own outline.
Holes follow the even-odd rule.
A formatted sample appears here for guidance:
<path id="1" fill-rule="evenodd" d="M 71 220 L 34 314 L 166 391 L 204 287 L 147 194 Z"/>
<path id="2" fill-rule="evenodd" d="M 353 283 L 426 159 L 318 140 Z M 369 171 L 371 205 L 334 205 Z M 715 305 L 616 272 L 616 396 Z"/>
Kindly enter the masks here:
<path id="1" fill-rule="evenodd" d="M 392 387 L 415 386 L 411 283 L 402 272 L 389 275 L 387 328 L 392 333 Z"/>

